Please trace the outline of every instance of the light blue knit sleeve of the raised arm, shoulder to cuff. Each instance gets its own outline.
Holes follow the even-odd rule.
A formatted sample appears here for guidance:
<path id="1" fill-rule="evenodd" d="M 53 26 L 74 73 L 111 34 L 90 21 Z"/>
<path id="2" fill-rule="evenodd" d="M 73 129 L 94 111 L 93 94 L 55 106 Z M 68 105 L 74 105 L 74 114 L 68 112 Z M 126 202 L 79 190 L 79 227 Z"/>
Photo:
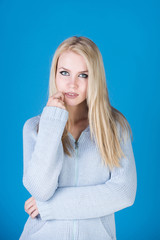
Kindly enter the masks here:
<path id="1" fill-rule="evenodd" d="M 45 106 L 39 120 L 28 119 L 23 126 L 23 185 L 39 201 L 47 201 L 58 187 L 64 151 L 61 137 L 68 111 Z"/>

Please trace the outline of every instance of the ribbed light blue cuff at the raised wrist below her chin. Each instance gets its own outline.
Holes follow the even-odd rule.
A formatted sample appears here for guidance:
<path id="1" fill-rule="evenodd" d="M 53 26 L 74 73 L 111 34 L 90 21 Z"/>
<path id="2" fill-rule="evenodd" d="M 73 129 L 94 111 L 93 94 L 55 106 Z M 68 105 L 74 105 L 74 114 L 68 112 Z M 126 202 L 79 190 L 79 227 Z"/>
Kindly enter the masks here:
<path id="1" fill-rule="evenodd" d="M 59 107 L 53 107 L 53 106 L 45 106 L 43 108 L 41 118 L 42 119 L 48 119 L 48 120 L 60 120 L 60 121 L 65 121 L 68 119 L 68 111 L 59 108 Z"/>

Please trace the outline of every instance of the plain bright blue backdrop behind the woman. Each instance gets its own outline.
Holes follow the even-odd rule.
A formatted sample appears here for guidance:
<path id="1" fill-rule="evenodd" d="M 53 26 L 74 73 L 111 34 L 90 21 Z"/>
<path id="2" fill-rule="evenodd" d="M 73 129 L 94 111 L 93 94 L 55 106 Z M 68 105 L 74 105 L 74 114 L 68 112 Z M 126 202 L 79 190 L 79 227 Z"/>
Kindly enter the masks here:
<path id="1" fill-rule="evenodd" d="M 31 196 L 22 184 L 24 122 L 48 99 L 51 60 L 73 35 L 103 56 L 111 104 L 133 132 L 138 188 L 115 213 L 117 240 L 160 239 L 159 1 L 0 1 L 0 239 L 19 239 Z"/>

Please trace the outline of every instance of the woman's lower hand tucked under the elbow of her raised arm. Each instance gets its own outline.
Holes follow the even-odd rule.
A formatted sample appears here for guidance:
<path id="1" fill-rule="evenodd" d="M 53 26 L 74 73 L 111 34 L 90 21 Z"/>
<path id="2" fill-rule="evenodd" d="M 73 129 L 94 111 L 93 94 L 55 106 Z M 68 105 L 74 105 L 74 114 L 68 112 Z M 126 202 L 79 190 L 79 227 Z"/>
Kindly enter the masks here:
<path id="1" fill-rule="evenodd" d="M 25 201 L 24 209 L 25 212 L 31 216 L 31 218 L 35 218 L 39 214 L 36 201 L 33 197 Z"/>

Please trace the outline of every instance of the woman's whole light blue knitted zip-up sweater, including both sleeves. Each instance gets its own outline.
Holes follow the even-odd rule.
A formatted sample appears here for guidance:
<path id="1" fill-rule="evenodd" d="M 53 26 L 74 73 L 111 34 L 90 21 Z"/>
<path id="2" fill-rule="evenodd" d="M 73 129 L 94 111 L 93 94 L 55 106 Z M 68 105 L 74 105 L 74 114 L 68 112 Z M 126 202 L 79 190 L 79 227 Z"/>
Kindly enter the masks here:
<path id="1" fill-rule="evenodd" d="M 103 164 L 90 127 L 76 143 L 73 157 L 64 154 L 61 137 L 68 111 L 45 106 L 23 126 L 23 184 L 35 198 L 39 215 L 30 216 L 20 240 L 116 239 L 114 213 L 131 206 L 137 191 L 135 159 L 128 137 L 121 168 Z M 37 128 L 39 125 L 39 132 Z M 117 124 L 119 136 L 120 124 Z"/>

